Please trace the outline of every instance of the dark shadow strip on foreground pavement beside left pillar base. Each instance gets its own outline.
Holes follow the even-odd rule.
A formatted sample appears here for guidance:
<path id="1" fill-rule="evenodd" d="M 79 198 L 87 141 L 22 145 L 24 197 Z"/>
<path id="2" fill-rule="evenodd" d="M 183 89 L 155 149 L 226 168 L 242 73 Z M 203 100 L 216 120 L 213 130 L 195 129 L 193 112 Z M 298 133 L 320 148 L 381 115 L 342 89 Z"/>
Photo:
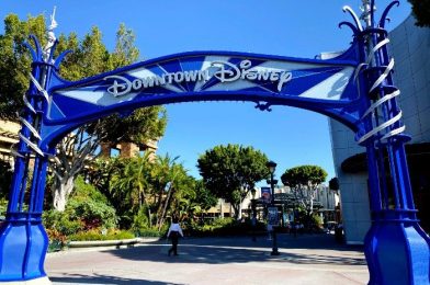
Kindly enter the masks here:
<path id="1" fill-rule="evenodd" d="M 138 284 L 150 284 L 150 285 L 184 285 L 181 283 L 166 283 L 158 281 L 148 280 L 134 280 L 127 277 L 109 276 L 102 274 L 83 275 L 83 274 L 65 274 L 61 277 L 49 276 L 49 280 L 54 284 L 105 284 L 105 285 L 138 285 Z"/>

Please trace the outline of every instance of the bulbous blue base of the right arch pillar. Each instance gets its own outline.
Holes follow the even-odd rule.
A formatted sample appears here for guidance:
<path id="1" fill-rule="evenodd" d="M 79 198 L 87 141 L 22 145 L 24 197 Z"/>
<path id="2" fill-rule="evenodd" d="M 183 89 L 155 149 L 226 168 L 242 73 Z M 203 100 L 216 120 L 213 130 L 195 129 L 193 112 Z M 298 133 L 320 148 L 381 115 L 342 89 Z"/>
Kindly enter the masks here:
<path id="1" fill-rule="evenodd" d="M 373 214 L 364 240 L 369 284 L 429 284 L 430 239 L 416 220 L 416 210 Z"/>

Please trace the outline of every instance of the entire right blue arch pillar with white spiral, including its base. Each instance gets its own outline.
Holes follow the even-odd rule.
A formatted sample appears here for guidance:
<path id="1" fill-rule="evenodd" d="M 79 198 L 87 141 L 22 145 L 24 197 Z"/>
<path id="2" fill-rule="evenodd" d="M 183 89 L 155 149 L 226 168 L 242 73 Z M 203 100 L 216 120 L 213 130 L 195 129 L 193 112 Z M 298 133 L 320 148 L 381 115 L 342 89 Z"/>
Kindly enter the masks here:
<path id="1" fill-rule="evenodd" d="M 366 122 L 364 133 L 373 135 L 364 138 L 364 134 L 358 134 L 358 140 L 366 147 L 369 164 L 372 227 L 364 241 L 369 284 L 430 284 L 430 239 L 419 226 L 412 201 L 404 147 L 410 138 L 401 134 L 401 111 L 396 102 L 399 91 L 393 82 L 394 61 L 386 47 L 384 24 L 395 4 L 399 2 L 392 2 L 375 26 L 371 1 L 371 24 L 352 29 L 363 49 L 361 62 L 366 62 L 361 80 L 367 82 L 366 93 L 375 106 L 369 105 L 371 112 L 362 113 Z M 383 126 L 386 122 L 391 123 Z"/>

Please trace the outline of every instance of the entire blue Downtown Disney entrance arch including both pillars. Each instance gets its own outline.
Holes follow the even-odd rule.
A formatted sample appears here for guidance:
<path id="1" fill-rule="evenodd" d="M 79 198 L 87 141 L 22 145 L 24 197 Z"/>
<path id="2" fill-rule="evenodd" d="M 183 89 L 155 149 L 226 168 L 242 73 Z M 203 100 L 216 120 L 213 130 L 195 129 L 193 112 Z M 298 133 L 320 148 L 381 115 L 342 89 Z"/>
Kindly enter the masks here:
<path id="1" fill-rule="evenodd" d="M 385 18 L 396 2 L 383 12 L 378 26 L 373 4 L 370 24 L 364 29 L 352 9 L 344 8 L 353 23 L 342 22 L 340 26 L 352 30 L 353 43 L 329 60 L 231 52 L 183 53 L 68 82 L 57 73 L 68 52 L 54 60 L 52 50 L 44 60 L 33 37 L 36 48 L 30 48 L 34 62 L 24 111 L 26 124 L 21 130 L 7 220 L 0 229 L 0 281 L 46 275 L 43 265 L 48 240 L 41 215 L 47 158 L 55 155 L 55 145 L 65 134 L 92 119 L 128 114 L 137 107 L 228 100 L 254 102 L 261 111 L 274 105 L 306 109 L 357 132 L 369 161 L 373 225 L 365 238 L 365 255 L 370 284 L 428 284 L 429 238 L 416 217 L 404 149 L 408 137 L 401 134 L 401 113 L 395 99 L 399 92 L 391 76 L 384 30 Z M 247 77 L 251 70 L 261 72 L 260 79 Z M 268 72 L 278 76 L 272 80 Z M 189 80 L 184 80 L 185 75 Z M 281 76 L 285 79 L 282 83 Z M 225 80 L 233 77 L 237 78 Z M 31 155 L 35 163 L 26 203 Z"/>

